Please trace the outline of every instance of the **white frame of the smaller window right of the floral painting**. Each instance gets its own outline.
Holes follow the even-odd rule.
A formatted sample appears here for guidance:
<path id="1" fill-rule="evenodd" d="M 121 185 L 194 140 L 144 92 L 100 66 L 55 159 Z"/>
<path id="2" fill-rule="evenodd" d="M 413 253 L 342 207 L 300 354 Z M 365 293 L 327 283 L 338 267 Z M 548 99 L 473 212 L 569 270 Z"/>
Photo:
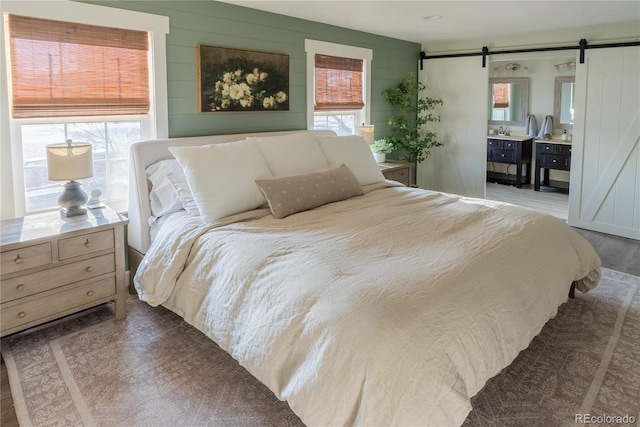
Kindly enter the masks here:
<path id="1" fill-rule="evenodd" d="M 329 43 L 319 40 L 306 39 L 304 50 L 307 53 L 307 129 L 314 128 L 315 111 L 313 100 L 315 97 L 315 56 L 316 54 L 339 56 L 342 58 L 362 59 L 362 88 L 364 95 L 364 108 L 356 116 L 360 124 L 371 123 L 371 61 L 373 60 L 373 50 L 363 47 L 349 46 L 344 44 Z M 354 110 L 335 111 L 335 114 L 351 114 Z M 327 115 L 328 113 L 321 113 Z M 355 129 L 354 129 L 355 130 Z"/>

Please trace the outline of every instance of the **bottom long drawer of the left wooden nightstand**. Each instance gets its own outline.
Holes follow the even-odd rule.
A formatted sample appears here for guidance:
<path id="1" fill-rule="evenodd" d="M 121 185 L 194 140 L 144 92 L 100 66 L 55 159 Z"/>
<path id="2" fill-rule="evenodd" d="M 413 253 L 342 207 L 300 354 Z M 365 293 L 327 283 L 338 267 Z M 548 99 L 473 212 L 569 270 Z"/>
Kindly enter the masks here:
<path id="1" fill-rule="evenodd" d="M 11 330 L 31 322 L 89 306 L 116 293 L 115 278 L 98 280 L 49 295 L 47 298 L 25 298 L 16 304 L 2 304 L 2 329 Z"/>

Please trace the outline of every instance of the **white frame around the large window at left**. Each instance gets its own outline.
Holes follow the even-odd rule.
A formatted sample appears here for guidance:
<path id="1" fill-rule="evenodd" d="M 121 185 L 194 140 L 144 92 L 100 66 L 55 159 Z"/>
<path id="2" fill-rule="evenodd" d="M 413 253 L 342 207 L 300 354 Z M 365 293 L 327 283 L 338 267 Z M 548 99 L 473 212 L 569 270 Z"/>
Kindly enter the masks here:
<path id="1" fill-rule="evenodd" d="M 25 214 L 25 183 L 22 158 L 21 126 L 24 124 L 140 120 L 142 137 L 147 139 L 168 138 L 168 92 L 166 35 L 169 33 L 167 16 L 96 6 L 68 0 L 59 1 L 3 1 L 2 32 L 0 33 L 0 55 L 6 67 L 0 67 L 0 150 L 2 153 L 0 177 L 2 180 L 2 218 Z M 60 117 L 56 119 L 14 119 L 11 117 L 11 58 L 6 43 L 9 41 L 5 15 L 16 14 L 34 18 L 89 25 L 117 27 L 150 33 L 149 101 L 147 115 Z M 145 126 L 146 125 L 146 126 Z M 146 129 L 145 129 L 146 128 Z M 10 159 L 10 161 L 8 160 Z M 7 204 L 12 206 L 7 207 Z M 123 206 L 126 210 L 126 206 Z M 119 207 L 118 207 L 119 208 Z"/>

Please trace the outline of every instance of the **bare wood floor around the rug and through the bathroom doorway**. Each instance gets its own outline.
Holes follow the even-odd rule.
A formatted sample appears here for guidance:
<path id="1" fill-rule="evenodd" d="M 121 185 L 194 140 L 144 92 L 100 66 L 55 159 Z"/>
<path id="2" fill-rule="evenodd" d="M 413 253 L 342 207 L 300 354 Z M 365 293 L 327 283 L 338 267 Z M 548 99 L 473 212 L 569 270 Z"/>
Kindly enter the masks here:
<path id="1" fill-rule="evenodd" d="M 568 195 L 566 193 L 553 190 L 534 192 L 533 186 L 531 189 L 527 187 L 517 189 L 488 183 L 487 198 L 526 206 L 567 219 Z M 582 229 L 576 229 L 576 231 L 593 245 L 602 259 L 603 267 L 640 276 L 640 242 L 595 231 Z M 0 424 L 2 427 L 16 427 L 18 421 L 4 362 L 0 370 Z"/>

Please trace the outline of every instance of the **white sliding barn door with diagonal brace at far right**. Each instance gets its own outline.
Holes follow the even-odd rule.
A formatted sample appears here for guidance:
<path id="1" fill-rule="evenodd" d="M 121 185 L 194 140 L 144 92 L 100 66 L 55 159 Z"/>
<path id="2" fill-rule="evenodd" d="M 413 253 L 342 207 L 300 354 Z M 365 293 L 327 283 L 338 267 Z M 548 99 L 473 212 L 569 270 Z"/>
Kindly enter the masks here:
<path id="1" fill-rule="evenodd" d="M 569 224 L 640 239 L 640 47 L 587 50 L 575 102 Z"/>

